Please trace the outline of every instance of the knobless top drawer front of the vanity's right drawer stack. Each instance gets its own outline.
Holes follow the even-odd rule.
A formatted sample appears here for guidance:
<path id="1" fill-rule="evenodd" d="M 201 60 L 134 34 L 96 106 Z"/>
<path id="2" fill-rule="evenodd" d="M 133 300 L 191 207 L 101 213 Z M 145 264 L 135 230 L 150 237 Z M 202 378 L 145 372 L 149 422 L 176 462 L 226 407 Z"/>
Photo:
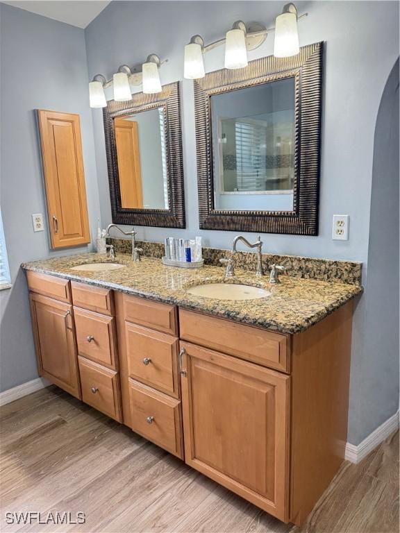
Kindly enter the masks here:
<path id="1" fill-rule="evenodd" d="M 147 328 L 177 335 L 176 307 L 124 295 L 125 320 Z"/>

